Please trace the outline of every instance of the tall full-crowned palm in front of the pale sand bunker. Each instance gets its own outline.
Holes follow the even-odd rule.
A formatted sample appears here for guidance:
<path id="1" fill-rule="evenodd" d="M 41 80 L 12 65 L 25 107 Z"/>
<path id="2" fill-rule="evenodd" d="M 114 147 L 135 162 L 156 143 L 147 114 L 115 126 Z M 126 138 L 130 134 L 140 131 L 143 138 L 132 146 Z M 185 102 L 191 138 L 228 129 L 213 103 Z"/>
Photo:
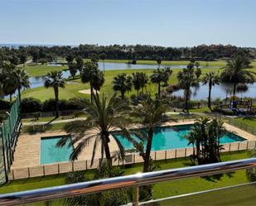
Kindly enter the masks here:
<path id="1" fill-rule="evenodd" d="M 81 70 L 80 78 L 83 83 L 89 83 L 90 102 L 93 102 L 94 89 L 99 89 L 104 84 L 104 73 L 98 69 L 98 64 L 92 61 L 85 62 L 85 66 Z"/>

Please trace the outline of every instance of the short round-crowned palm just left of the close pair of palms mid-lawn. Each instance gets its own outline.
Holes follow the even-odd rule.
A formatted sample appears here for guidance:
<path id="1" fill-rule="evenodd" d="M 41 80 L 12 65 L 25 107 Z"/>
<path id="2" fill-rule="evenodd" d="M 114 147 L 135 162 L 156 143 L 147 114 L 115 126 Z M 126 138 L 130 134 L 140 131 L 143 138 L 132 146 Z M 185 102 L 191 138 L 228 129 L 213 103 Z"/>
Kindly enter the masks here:
<path id="1" fill-rule="evenodd" d="M 124 93 L 131 91 L 133 88 L 133 79 L 126 73 L 118 74 L 113 80 L 114 91 L 120 91 L 122 99 L 124 98 Z"/>

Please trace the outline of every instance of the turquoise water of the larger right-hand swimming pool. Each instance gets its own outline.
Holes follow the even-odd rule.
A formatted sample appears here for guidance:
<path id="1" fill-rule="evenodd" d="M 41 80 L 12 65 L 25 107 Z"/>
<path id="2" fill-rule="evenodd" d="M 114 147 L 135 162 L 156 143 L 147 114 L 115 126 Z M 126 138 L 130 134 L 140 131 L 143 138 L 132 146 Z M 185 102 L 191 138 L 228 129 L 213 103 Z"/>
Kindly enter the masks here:
<path id="1" fill-rule="evenodd" d="M 189 132 L 191 132 L 191 127 L 193 125 L 182 125 L 175 127 L 157 127 L 154 132 L 152 140 L 152 151 L 162 151 L 171 150 L 175 148 L 189 147 L 188 141 L 184 138 Z M 133 144 L 127 139 L 119 135 L 118 133 L 113 133 L 115 137 L 121 142 L 123 147 L 128 149 L 133 149 Z M 134 137 L 136 138 L 136 137 Z M 244 138 L 235 135 L 234 133 L 227 132 L 223 137 L 221 137 L 220 142 L 229 143 L 234 141 L 244 141 Z M 146 143 L 145 143 L 146 144 Z"/>

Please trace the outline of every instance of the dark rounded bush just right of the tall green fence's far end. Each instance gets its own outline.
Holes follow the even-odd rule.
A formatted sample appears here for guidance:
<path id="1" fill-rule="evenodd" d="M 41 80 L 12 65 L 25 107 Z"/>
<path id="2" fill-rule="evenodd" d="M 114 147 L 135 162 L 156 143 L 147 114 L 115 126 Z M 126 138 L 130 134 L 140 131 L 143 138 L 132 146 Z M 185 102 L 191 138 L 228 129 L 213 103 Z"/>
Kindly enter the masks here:
<path id="1" fill-rule="evenodd" d="M 23 98 L 21 102 L 22 113 L 41 112 L 42 104 L 36 98 Z"/>

